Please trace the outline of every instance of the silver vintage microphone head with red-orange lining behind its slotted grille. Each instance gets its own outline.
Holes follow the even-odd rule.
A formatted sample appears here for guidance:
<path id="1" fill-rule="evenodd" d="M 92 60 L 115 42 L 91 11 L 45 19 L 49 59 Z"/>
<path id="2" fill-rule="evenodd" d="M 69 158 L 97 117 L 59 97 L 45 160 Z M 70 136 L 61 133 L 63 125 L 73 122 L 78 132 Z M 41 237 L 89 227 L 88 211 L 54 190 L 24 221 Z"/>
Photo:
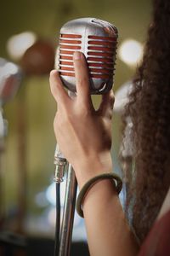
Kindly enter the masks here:
<path id="1" fill-rule="evenodd" d="M 116 26 L 95 18 L 65 23 L 60 29 L 57 68 L 71 91 L 76 91 L 73 53 L 82 51 L 88 62 L 91 94 L 103 94 L 113 85 L 118 33 Z"/>

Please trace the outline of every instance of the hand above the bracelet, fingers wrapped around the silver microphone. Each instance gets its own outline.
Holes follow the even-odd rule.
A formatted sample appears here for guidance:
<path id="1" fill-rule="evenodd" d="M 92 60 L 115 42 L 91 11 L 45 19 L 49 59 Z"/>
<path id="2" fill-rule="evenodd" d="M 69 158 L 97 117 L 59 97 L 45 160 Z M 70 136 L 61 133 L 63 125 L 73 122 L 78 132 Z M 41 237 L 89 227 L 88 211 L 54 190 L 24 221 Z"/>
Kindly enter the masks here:
<path id="1" fill-rule="evenodd" d="M 59 148 L 75 169 L 82 186 L 89 177 L 111 171 L 114 96 L 112 90 L 107 92 L 102 96 L 99 109 L 95 110 L 90 96 L 88 67 L 82 53 L 74 54 L 74 68 L 77 81 L 75 98 L 67 95 L 57 71 L 50 75 L 50 86 L 58 103 L 54 131 Z M 93 165 L 93 171 L 89 170 L 89 163 Z"/>

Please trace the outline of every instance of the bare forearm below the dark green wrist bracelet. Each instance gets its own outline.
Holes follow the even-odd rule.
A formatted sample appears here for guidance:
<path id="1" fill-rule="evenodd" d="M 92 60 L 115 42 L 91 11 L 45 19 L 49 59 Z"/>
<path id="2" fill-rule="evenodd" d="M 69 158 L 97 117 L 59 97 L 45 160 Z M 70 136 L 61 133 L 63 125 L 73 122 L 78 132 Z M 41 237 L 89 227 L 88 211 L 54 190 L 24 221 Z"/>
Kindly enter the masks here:
<path id="1" fill-rule="evenodd" d="M 94 173 L 99 174 L 98 170 L 94 166 Z M 86 178 L 88 175 L 91 178 L 90 172 L 86 172 Z M 99 181 L 88 191 L 83 201 L 83 213 L 91 256 L 137 255 L 137 241 L 129 229 L 116 189 L 110 180 Z"/>

